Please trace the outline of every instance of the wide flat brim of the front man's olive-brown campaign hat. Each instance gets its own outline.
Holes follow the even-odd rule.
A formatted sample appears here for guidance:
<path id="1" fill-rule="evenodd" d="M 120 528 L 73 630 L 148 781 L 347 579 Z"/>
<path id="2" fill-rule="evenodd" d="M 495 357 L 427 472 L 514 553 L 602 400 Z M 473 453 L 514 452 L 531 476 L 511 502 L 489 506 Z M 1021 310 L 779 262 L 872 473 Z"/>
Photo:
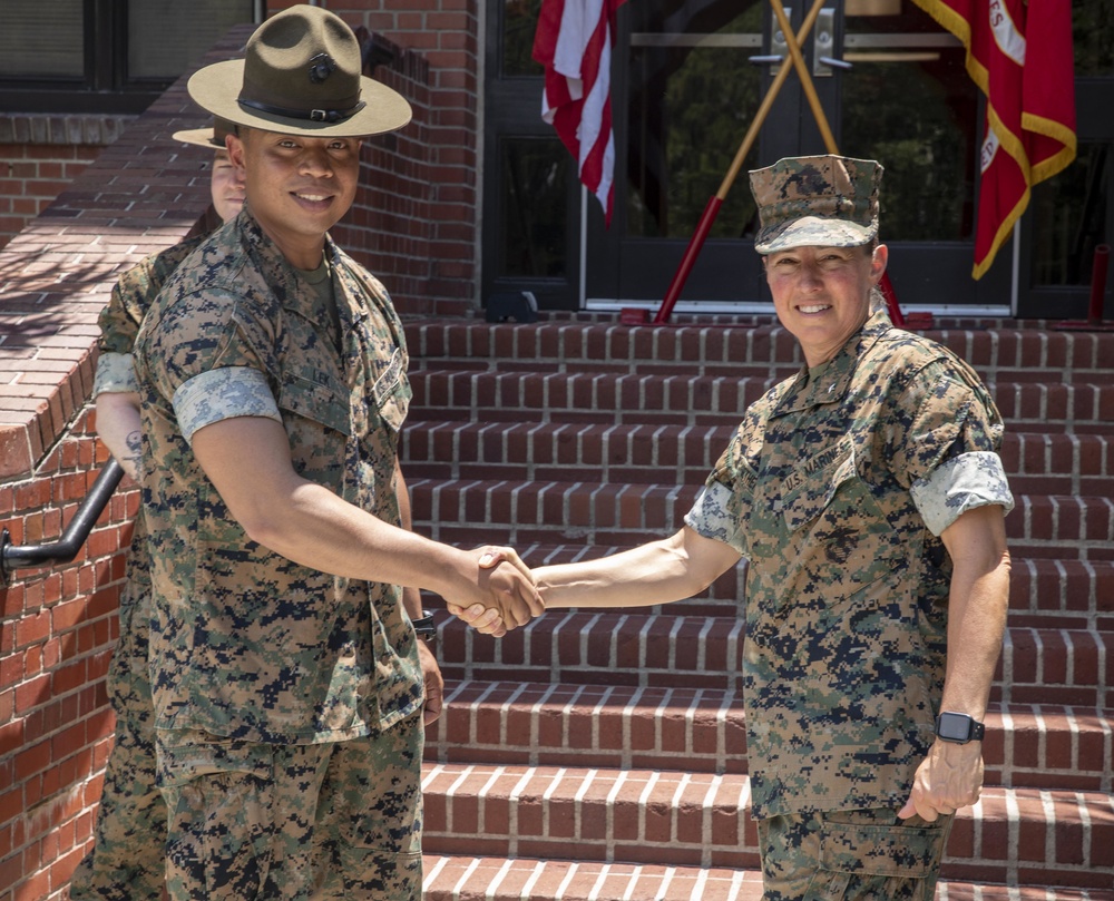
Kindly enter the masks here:
<path id="1" fill-rule="evenodd" d="M 244 60 L 229 59 L 206 66 L 193 75 L 187 84 L 189 96 L 197 105 L 214 116 L 228 121 L 303 137 L 363 137 L 394 131 L 410 121 L 410 104 L 395 90 L 360 76 L 360 99 L 363 108 L 343 121 L 313 121 L 293 118 L 251 107 L 241 106 L 238 97 L 244 81 Z"/>

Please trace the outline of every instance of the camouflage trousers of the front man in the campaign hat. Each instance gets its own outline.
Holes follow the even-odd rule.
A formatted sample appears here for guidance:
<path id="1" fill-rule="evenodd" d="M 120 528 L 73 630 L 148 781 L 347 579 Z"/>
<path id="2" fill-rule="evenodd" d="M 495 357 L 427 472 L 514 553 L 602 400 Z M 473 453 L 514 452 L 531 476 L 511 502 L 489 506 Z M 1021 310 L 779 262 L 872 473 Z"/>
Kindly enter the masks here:
<path id="1" fill-rule="evenodd" d="M 174 901 L 418 901 L 421 714 L 367 738 L 266 745 L 158 733 Z"/>

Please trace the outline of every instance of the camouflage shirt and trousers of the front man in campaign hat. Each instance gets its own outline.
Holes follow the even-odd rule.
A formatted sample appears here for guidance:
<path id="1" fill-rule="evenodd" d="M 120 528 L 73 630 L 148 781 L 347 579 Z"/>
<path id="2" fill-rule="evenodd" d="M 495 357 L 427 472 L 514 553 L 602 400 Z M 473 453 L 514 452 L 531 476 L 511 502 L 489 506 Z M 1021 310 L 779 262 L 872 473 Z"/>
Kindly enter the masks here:
<path id="1" fill-rule="evenodd" d="M 334 311 L 248 210 L 178 270 L 136 346 L 174 898 L 421 889 L 423 688 L 401 589 L 251 541 L 189 444 L 207 424 L 268 417 L 300 476 L 399 525 L 401 323 L 328 239 L 325 258 L 340 349 Z"/>

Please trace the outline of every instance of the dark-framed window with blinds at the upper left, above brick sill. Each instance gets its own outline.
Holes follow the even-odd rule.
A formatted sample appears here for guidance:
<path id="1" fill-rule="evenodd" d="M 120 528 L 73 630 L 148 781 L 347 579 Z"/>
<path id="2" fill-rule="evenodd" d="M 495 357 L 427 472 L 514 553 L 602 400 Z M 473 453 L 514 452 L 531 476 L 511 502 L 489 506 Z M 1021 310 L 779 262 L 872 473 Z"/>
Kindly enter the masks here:
<path id="1" fill-rule="evenodd" d="M 3 0 L 0 109 L 139 112 L 261 0 Z"/>

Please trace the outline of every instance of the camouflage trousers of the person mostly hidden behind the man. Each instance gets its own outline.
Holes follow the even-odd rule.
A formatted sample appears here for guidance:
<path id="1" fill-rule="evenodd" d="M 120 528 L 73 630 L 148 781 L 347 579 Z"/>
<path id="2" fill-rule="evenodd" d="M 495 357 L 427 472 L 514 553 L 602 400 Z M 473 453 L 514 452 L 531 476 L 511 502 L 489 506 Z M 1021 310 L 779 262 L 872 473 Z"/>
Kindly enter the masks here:
<path id="1" fill-rule="evenodd" d="M 116 734 L 108 754 L 92 850 L 70 881 L 71 901 L 163 897 L 166 804 L 155 785 L 155 712 L 147 674 L 150 595 L 129 579 L 108 670 Z"/>

